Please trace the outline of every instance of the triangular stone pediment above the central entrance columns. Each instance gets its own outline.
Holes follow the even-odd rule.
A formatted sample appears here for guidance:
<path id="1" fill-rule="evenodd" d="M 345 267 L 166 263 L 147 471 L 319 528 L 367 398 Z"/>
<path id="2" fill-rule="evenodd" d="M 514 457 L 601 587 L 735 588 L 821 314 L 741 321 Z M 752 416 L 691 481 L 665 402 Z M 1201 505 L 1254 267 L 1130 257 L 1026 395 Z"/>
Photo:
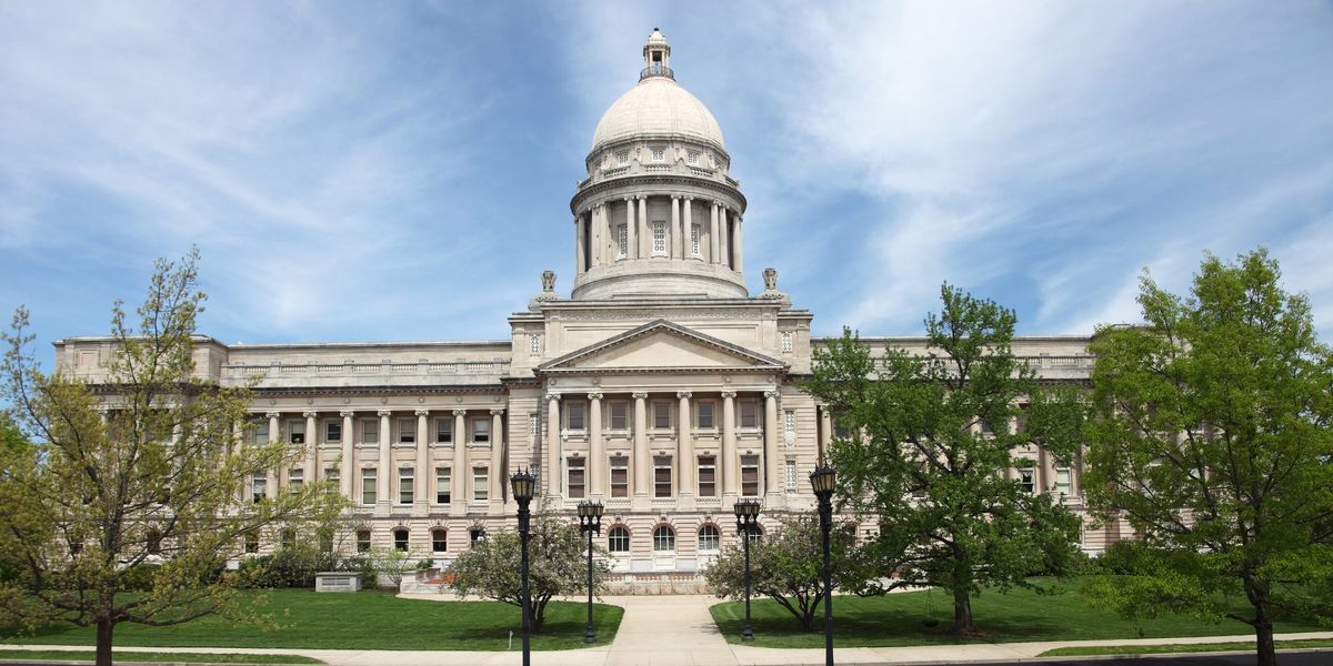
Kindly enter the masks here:
<path id="1" fill-rule="evenodd" d="M 665 320 L 645 324 L 539 368 L 539 372 L 780 370 L 782 361 Z"/>

